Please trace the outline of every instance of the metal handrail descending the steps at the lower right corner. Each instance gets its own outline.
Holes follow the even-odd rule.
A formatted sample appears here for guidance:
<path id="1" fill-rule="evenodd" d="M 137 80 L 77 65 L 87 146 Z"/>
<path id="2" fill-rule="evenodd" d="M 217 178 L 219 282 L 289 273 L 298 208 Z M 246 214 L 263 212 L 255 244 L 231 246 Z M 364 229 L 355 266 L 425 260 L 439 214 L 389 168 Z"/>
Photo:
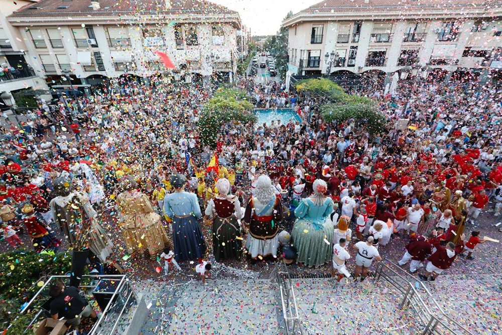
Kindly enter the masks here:
<path id="1" fill-rule="evenodd" d="M 403 301 L 401 302 L 400 308 L 403 308 L 405 304 L 410 304 L 412 301 L 415 301 L 416 304 L 412 304 L 412 307 L 417 312 L 418 312 L 419 308 L 422 308 L 423 310 L 425 310 L 427 312 L 428 315 L 426 315 L 426 316 L 427 316 L 428 321 L 427 321 L 427 319 L 424 321 L 423 318 L 422 318 L 422 315 L 420 315 L 420 313 L 418 313 L 418 316 L 419 316 L 420 320 L 422 322 L 424 322 L 424 324 L 426 324 L 424 332 L 422 333 L 423 335 L 431 334 L 433 332 L 437 333 L 437 334 L 441 334 L 441 332 L 439 332 L 436 329 L 436 327 L 438 325 L 443 326 L 444 328 L 446 328 L 449 331 L 451 331 L 453 334 L 458 334 L 455 330 L 453 330 L 450 326 L 448 326 L 443 321 L 444 318 L 446 318 L 448 321 L 450 321 L 451 323 L 453 323 L 455 325 L 455 327 L 461 328 L 463 331 L 465 331 L 469 335 L 473 335 L 473 333 L 471 331 L 469 331 L 463 325 L 461 325 L 460 323 L 458 323 L 457 321 L 455 321 L 454 319 L 452 319 L 450 316 L 448 316 L 443 311 L 443 309 L 438 304 L 438 302 L 436 301 L 436 299 L 434 299 L 434 297 L 432 296 L 432 294 L 429 291 L 429 289 L 427 287 L 425 287 L 424 283 L 422 283 L 421 281 L 417 281 L 415 277 L 413 277 L 411 274 L 407 273 L 405 270 L 403 270 L 403 269 L 401 269 L 400 267 L 397 266 L 398 269 L 400 269 L 401 271 L 405 272 L 407 276 L 411 276 L 414 279 L 415 282 L 418 282 L 419 285 L 421 285 L 422 288 L 424 288 L 424 290 L 426 292 L 426 297 L 428 299 L 431 299 L 433 301 L 433 306 L 435 306 L 439 310 L 439 312 L 441 314 L 441 317 L 438 317 L 438 315 L 436 315 L 435 313 L 433 313 L 429 309 L 429 307 L 427 306 L 427 304 L 425 303 L 424 299 L 422 299 L 420 293 L 415 288 L 415 286 L 410 281 L 408 281 L 405 277 L 403 277 L 402 275 L 400 275 L 399 273 L 397 273 L 397 271 L 395 271 L 394 269 L 392 269 L 387 263 L 394 264 L 394 263 L 387 262 L 387 261 L 380 262 L 376 266 L 376 272 L 378 273 L 378 276 L 376 276 L 374 280 L 376 281 L 376 280 L 379 280 L 380 278 L 384 278 L 390 284 L 392 284 L 394 287 L 396 287 L 399 291 L 401 291 L 403 293 L 403 291 L 402 291 L 403 286 L 401 286 L 391 276 L 389 276 L 388 274 L 384 273 L 384 268 L 386 268 L 386 269 L 390 270 L 392 273 L 394 273 L 397 277 L 401 278 L 402 280 L 404 280 L 407 283 L 408 289 L 407 289 L 407 291 L 405 293 Z"/>

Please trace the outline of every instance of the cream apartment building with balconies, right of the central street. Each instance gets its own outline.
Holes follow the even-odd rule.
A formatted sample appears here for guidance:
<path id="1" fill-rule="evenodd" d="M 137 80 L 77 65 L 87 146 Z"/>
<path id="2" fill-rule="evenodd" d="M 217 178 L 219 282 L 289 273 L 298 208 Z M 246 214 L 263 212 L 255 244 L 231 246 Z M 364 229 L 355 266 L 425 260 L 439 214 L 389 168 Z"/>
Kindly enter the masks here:
<path id="1" fill-rule="evenodd" d="M 500 0 L 324 0 L 283 21 L 289 71 L 500 75 Z"/>

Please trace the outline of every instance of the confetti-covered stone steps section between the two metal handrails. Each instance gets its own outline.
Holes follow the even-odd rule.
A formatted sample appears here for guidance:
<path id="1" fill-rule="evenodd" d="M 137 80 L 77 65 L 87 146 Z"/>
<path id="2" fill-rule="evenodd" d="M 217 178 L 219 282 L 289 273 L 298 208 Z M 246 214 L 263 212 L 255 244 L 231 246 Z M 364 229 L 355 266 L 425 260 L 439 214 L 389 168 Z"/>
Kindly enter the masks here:
<path id="1" fill-rule="evenodd" d="M 410 309 L 399 309 L 402 295 L 387 282 L 343 279 L 292 279 L 299 314 L 308 333 L 416 334 Z"/>

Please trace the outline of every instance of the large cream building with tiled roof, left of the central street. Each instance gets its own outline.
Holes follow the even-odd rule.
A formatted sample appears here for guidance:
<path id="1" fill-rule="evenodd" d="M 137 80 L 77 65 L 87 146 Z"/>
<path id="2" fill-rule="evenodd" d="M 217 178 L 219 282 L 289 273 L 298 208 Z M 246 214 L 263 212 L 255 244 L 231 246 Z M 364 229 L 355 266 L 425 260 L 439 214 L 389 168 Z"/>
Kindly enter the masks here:
<path id="1" fill-rule="evenodd" d="M 49 85 L 165 72 L 157 50 L 176 79 L 231 82 L 247 41 L 237 12 L 205 0 L 40 0 L 7 21 Z"/>

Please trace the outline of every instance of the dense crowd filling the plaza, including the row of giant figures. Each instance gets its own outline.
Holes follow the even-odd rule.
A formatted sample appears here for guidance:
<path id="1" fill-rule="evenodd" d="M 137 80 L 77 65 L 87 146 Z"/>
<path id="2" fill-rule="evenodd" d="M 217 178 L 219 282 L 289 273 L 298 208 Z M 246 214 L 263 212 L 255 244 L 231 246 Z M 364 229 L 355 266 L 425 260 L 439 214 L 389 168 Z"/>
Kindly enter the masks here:
<path id="1" fill-rule="evenodd" d="M 288 106 L 302 121 L 227 123 L 212 149 L 198 124 L 212 93 L 199 84 L 157 79 L 128 83 L 135 94 L 126 96 L 105 89 L 41 99 L 1 134 L 6 242 L 18 248 L 26 234 L 37 252 L 74 246 L 57 216 L 73 206 L 68 194 L 89 220 L 97 212 L 109 222 L 75 227 L 119 231 L 130 256 L 160 256 L 166 274 L 198 261 L 205 278 L 212 254 L 216 262 L 332 264 L 338 280 L 364 280 L 382 259 L 379 247 L 401 235 L 409 243 L 400 265 L 425 266 L 420 277 L 434 280 L 486 241 L 480 213 L 502 210 L 500 86 L 411 79 L 392 94 L 360 87 L 389 120 L 387 131 L 369 134 L 364 120 L 323 122 L 322 97 L 277 82 L 240 85 L 256 107 Z M 208 239 L 202 222 L 211 221 Z M 117 246 L 102 240 L 91 250 L 100 262 L 115 260 Z"/>

